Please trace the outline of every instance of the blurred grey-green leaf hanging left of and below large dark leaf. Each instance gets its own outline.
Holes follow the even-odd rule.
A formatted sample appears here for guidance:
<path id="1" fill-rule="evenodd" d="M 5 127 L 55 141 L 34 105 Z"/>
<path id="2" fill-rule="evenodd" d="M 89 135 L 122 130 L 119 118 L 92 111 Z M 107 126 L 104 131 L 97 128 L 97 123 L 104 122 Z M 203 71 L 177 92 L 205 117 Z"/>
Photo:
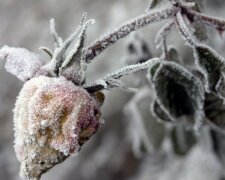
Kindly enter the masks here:
<path id="1" fill-rule="evenodd" d="M 137 157 L 154 153 L 164 139 L 164 125 L 150 113 L 151 90 L 142 87 L 125 105 L 128 138 Z"/>

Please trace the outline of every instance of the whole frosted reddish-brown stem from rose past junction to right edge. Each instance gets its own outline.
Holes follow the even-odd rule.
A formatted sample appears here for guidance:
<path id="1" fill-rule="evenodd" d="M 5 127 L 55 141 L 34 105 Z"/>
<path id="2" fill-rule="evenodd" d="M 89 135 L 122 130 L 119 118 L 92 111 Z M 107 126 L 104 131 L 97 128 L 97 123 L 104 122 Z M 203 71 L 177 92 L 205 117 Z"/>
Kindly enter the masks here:
<path id="1" fill-rule="evenodd" d="M 178 1 L 173 0 L 171 2 L 173 5 L 172 7 L 158 9 L 154 12 L 148 12 L 146 14 L 140 15 L 135 19 L 124 23 L 113 32 L 106 34 L 99 40 L 93 42 L 84 50 L 84 59 L 86 60 L 86 62 L 90 63 L 91 60 L 93 60 L 97 55 L 102 53 L 105 49 L 107 49 L 118 40 L 129 35 L 131 32 L 141 29 L 148 24 L 173 18 L 178 11 L 180 11 L 182 15 L 186 15 L 190 22 L 202 22 L 206 25 L 218 29 L 219 31 L 225 30 L 225 20 L 215 17 L 209 17 L 202 13 L 198 13 L 190 9 L 190 5 L 188 4 L 182 4 Z"/>

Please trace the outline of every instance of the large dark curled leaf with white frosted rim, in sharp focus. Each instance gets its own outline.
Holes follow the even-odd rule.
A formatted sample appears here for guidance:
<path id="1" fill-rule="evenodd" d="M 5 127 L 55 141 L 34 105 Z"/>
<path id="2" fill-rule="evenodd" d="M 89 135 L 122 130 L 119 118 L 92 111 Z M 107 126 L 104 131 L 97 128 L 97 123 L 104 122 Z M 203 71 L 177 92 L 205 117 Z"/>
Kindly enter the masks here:
<path id="1" fill-rule="evenodd" d="M 157 102 L 164 111 L 175 120 L 182 116 L 193 116 L 194 128 L 197 130 L 202 126 L 204 88 L 199 79 L 174 62 L 162 62 L 152 81 Z"/>

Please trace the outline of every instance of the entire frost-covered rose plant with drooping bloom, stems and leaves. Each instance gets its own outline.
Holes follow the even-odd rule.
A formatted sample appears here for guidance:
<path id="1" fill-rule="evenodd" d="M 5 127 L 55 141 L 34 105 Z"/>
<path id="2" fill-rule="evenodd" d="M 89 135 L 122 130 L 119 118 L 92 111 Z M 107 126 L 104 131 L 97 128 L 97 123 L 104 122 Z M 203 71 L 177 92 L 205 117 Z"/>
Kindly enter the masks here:
<path id="1" fill-rule="evenodd" d="M 158 3 L 165 3 L 165 7 L 152 9 Z M 101 90 L 117 87 L 133 91 L 119 79 L 143 69 L 148 69 L 150 85 L 141 88 L 144 96 L 136 94 L 127 110 L 130 108 L 135 112 L 133 122 L 139 127 L 134 139 L 139 144 L 144 142 L 148 151 L 154 148 L 144 124 L 139 121 L 142 114 L 138 112 L 136 104 L 149 95 L 149 106 L 151 104 L 156 119 L 194 127 L 198 133 L 204 124 L 223 130 L 223 114 L 216 111 L 211 102 L 215 101 L 220 108 L 224 106 L 221 101 L 225 99 L 225 60 L 202 41 L 207 37 L 205 25 L 221 32 L 225 30 L 225 20 L 209 17 L 200 11 L 197 1 L 152 1 L 146 13 L 124 23 L 89 46 L 85 45 L 86 30 L 94 20 L 86 20 L 86 14 L 76 31 L 66 40 L 59 37 L 54 20 L 51 20 L 50 32 L 55 49 L 40 48 L 49 55 L 50 61 L 24 48 L 2 47 L 0 58 L 6 61 L 6 70 L 25 82 L 14 109 L 15 151 L 21 162 L 21 176 L 39 179 L 54 165 L 77 154 L 102 125 L 100 108 L 104 95 Z M 144 43 L 140 43 L 145 46 L 138 51 L 130 46 L 130 53 L 133 53 L 132 57 L 128 57 L 132 61 L 128 63 L 130 65 L 86 83 L 87 66 L 96 56 L 131 32 L 166 19 L 169 22 L 155 38 L 157 47 L 162 49 L 160 57 L 152 58 Z M 176 48 L 167 45 L 166 38 L 173 29 L 177 29 L 193 49 L 194 68 L 181 60 Z"/>

